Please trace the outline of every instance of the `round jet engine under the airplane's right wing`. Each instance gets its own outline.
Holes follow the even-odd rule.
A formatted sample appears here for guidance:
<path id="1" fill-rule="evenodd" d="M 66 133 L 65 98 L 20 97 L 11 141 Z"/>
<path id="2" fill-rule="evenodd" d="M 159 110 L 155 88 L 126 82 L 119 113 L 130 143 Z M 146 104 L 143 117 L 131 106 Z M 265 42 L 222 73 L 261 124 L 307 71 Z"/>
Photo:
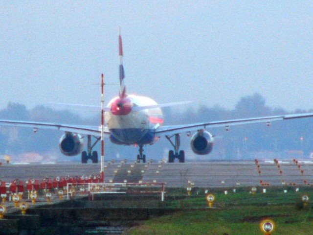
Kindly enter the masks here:
<path id="1" fill-rule="evenodd" d="M 196 154 L 209 154 L 213 150 L 214 137 L 207 131 L 199 130 L 192 136 L 190 145 Z"/>

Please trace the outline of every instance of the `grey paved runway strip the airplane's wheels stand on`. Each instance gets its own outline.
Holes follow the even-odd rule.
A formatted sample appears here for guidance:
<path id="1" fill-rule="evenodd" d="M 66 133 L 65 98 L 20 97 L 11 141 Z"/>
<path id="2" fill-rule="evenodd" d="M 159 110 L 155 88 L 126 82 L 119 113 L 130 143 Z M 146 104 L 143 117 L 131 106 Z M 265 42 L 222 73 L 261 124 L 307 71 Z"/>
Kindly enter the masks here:
<path id="1" fill-rule="evenodd" d="M 105 163 L 105 181 L 138 183 L 167 183 L 166 187 L 185 187 L 188 181 L 194 187 L 241 187 L 290 185 L 313 185 L 313 162 L 295 164 L 292 161 L 274 164 L 273 161 L 243 162 L 189 162 L 189 163 Z M 300 166 L 299 166 L 300 165 Z M 260 172 L 259 172 L 260 171 Z M 281 172 L 280 172 L 281 171 Z M 100 172 L 100 164 L 59 163 L 59 164 L 3 164 L 0 167 L 0 180 L 11 182 L 14 179 L 26 181 L 53 179 L 57 176 L 89 176 Z M 224 183 L 222 183 L 224 182 Z M 285 182 L 285 183 L 284 183 Z"/>

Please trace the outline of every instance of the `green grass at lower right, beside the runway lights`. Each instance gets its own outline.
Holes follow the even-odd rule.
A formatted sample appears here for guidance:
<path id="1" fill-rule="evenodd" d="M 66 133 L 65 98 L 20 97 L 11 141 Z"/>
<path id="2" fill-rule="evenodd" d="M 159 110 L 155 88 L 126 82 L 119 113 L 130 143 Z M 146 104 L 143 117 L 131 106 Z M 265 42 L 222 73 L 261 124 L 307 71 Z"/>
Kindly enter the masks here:
<path id="1" fill-rule="evenodd" d="M 280 188 L 281 189 L 281 188 Z M 313 196 L 311 188 L 301 193 L 283 193 L 273 189 L 266 194 L 246 191 L 224 195 L 216 192 L 218 210 L 205 210 L 204 196 L 190 196 L 166 202 L 168 208 L 202 210 L 180 211 L 144 221 L 127 235 L 261 235 L 259 223 L 271 218 L 276 223 L 274 235 L 312 235 L 312 205 L 303 207 L 301 195 Z"/>

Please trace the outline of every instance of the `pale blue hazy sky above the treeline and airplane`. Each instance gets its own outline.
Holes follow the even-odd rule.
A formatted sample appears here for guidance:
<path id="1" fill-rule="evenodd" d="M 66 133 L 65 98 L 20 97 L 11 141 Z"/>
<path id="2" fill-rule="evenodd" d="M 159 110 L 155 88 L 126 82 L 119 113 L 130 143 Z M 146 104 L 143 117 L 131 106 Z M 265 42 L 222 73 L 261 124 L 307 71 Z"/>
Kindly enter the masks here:
<path id="1" fill-rule="evenodd" d="M 0 0 L 0 108 L 98 105 L 118 83 L 122 27 L 129 93 L 232 109 L 255 92 L 313 108 L 313 1 Z M 106 100 L 118 87 L 106 88 Z"/>

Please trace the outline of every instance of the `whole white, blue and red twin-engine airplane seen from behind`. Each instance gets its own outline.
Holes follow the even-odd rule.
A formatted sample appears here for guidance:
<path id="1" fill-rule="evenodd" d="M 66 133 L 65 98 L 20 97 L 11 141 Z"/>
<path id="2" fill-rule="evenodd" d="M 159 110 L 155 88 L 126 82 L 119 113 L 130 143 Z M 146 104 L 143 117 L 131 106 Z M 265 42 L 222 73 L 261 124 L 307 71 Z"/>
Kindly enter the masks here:
<path id="1" fill-rule="evenodd" d="M 206 155 L 213 150 L 214 146 L 214 136 L 206 130 L 207 128 L 224 127 L 226 131 L 228 131 L 232 125 L 266 122 L 267 126 L 270 126 L 271 121 L 313 117 L 313 113 L 304 113 L 219 120 L 184 125 L 163 125 L 164 119 L 161 108 L 181 105 L 188 102 L 157 104 L 156 101 L 149 97 L 128 94 L 124 83 L 123 45 L 120 30 L 118 35 L 118 50 L 119 94 L 112 98 L 107 107 L 104 107 L 106 126 L 103 128 L 103 133 L 106 137 L 109 137 L 110 141 L 114 144 L 138 146 L 138 162 L 141 160 L 143 163 L 146 162 L 146 155 L 143 154 L 143 147 L 148 144 L 154 144 L 161 137 L 165 137 L 173 146 L 173 149 L 168 152 L 168 162 L 173 163 L 175 159 L 178 159 L 179 163 L 184 163 L 185 153 L 184 150 L 180 150 L 181 133 L 186 133 L 187 136 L 191 136 L 191 132 L 195 132 L 190 141 L 191 149 L 198 155 Z M 92 163 L 98 163 L 98 153 L 97 151 L 92 151 L 92 148 L 101 137 L 102 130 L 99 126 L 90 127 L 83 125 L 18 120 L 0 120 L 0 125 L 32 127 L 34 132 L 37 132 L 40 128 L 65 131 L 65 134 L 59 141 L 60 150 L 64 155 L 74 156 L 81 153 L 82 163 L 86 164 L 89 159 L 92 160 Z M 88 139 L 87 151 L 82 151 L 84 148 L 84 135 L 86 135 Z M 96 139 L 93 143 L 91 137 Z"/>

